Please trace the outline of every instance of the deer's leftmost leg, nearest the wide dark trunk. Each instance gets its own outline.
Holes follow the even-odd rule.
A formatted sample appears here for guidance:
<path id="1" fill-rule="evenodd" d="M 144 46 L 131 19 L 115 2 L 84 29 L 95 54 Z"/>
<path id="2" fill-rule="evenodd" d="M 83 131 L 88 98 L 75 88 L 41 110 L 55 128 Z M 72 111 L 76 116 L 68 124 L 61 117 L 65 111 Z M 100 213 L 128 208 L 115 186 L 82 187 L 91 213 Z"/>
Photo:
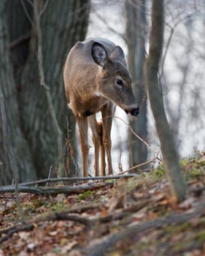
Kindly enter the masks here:
<path id="1" fill-rule="evenodd" d="M 80 148 L 82 153 L 82 173 L 88 176 L 88 117 L 76 117 L 77 126 L 80 132 Z"/>

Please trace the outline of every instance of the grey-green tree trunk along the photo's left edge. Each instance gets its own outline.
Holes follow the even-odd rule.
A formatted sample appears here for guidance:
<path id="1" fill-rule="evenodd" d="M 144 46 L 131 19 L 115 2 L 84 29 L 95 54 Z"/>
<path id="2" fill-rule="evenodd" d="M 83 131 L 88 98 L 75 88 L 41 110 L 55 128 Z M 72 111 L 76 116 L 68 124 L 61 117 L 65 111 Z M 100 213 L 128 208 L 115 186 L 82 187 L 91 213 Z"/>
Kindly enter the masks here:
<path id="1" fill-rule="evenodd" d="M 30 149 L 20 129 L 18 99 L 9 59 L 6 6 L 6 1 L 0 1 L 0 185 L 12 181 L 14 165 L 20 181 L 36 178 Z"/>

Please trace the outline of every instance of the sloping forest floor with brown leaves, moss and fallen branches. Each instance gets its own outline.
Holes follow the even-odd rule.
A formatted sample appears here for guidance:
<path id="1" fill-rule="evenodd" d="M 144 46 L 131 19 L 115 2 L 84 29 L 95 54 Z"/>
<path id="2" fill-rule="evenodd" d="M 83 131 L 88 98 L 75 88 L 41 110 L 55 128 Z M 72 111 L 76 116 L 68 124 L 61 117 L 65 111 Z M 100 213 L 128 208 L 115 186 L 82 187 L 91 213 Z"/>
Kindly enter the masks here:
<path id="1" fill-rule="evenodd" d="M 205 255 L 205 153 L 181 165 L 187 195 L 178 204 L 163 165 L 67 192 L 20 192 L 24 223 L 15 193 L 0 188 L 0 255 Z"/>

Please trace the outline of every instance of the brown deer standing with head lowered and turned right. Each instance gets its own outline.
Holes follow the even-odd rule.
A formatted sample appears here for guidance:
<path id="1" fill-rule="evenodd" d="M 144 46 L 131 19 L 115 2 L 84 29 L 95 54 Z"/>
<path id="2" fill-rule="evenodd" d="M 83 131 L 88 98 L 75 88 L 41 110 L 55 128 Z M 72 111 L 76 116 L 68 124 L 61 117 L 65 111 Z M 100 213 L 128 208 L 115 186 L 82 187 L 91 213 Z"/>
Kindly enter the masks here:
<path id="1" fill-rule="evenodd" d="M 63 80 L 66 99 L 80 133 L 83 176 L 88 176 L 88 127 L 95 148 L 95 175 L 99 175 L 99 155 L 101 175 L 106 175 L 106 157 L 108 173 L 111 175 L 110 136 L 115 108 L 119 106 L 131 116 L 139 114 L 123 49 L 104 38 L 77 42 L 66 58 Z M 100 121 L 96 118 L 98 112 L 101 112 Z"/>

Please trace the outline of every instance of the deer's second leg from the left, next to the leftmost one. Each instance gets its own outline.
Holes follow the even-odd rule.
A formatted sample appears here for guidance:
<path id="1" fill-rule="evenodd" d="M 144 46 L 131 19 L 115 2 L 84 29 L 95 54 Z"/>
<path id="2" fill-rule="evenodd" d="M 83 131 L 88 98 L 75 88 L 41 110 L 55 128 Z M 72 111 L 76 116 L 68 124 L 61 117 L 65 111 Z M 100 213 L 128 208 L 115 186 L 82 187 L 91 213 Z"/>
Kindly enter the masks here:
<path id="1" fill-rule="evenodd" d="M 98 121 L 96 120 L 96 116 L 89 116 L 88 117 L 88 121 L 89 121 L 89 125 L 90 125 L 90 129 L 92 131 L 92 139 L 93 139 L 93 145 L 95 147 L 95 173 L 96 176 L 99 175 L 99 151 L 102 151 L 102 125 L 101 123 L 98 123 Z M 102 165 L 102 161 L 104 161 L 101 158 L 101 165 Z"/>

